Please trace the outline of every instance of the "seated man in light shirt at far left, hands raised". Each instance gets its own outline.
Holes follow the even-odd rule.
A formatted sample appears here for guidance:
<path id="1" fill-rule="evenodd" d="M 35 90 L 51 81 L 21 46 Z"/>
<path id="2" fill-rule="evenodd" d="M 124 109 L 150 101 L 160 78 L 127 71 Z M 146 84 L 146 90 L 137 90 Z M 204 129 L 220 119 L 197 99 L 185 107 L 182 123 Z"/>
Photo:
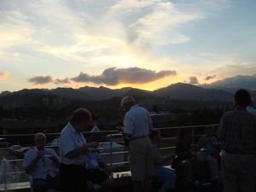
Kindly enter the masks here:
<path id="1" fill-rule="evenodd" d="M 36 148 L 27 151 L 23 161 L 26 174 L 33 177 L 33 192 L 61 190 L 61 179 L 55 172 L 55 168 L 58 168 L 61 162 L 55 150 L 44 148 L 46 137 L 43 133 L 37 133 L 34 142 Z"/>

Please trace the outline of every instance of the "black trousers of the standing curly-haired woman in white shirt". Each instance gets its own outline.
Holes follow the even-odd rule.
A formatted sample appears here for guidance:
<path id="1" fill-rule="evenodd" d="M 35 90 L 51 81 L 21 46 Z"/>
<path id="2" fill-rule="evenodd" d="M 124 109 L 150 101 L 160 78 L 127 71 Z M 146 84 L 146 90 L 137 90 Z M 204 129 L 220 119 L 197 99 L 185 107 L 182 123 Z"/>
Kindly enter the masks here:
<path id="1" fill-rule="evenodd" d="M 59 171 L 62 192 L 88 191 L 85 166 L 65 165 L 61 163 Z"/>

